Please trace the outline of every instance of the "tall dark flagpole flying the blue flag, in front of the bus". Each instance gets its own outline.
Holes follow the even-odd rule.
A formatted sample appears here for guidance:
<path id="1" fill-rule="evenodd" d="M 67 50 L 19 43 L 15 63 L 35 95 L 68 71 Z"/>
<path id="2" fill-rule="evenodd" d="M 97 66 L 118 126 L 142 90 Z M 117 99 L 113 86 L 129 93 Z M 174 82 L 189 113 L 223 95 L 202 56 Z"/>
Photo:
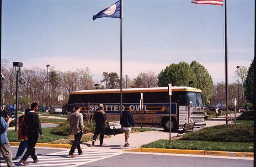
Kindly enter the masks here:
<path id="1" fill-rule="evenodd" d="M 120 9 L 120 116 L 123 114 L 123 0 Z"/>

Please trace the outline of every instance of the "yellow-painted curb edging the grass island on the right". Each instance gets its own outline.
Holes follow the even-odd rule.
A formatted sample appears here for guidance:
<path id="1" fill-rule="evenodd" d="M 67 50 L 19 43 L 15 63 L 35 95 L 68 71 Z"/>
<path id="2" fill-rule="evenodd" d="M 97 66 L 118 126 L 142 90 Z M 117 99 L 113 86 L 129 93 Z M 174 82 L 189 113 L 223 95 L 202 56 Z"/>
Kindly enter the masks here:
<path id="1" fill-rule="evenodd" d="M 135 148 L 125 150 L 126 152 L 158 152 L 171 154 L 197 154 L 211 156 L 227 156 L 227 157 L 254 157 L 253 152 L 221 152 L 221 151 L 206 151 L 206 150 L 179 150 L 179 149 L 163 149 L 163 148 Z"/>

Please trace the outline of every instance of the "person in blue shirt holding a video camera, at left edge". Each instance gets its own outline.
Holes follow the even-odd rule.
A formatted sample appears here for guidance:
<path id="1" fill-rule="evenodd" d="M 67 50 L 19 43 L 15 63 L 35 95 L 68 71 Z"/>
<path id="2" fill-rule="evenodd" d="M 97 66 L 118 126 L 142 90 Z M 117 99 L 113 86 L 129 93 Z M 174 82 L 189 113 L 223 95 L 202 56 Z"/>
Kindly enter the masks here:
<path id="1" fill-rule="evenodd" d="M 5 121 L 7 120 L 7 122 Z M 9 140 L 7 137 L 7 132 L 6 130 L 9 127 L 10 122 L 13 119 L 10 118 L 9 116 L 6 116 L 5 118 L 1 116 L 1 154 L 3 155 L 5 162 L 7 163 L 8 167 L 14 167 L 14 163 L 12 161 L 12 153 L 11 153 L 11 146 L 9 144 Z"/>

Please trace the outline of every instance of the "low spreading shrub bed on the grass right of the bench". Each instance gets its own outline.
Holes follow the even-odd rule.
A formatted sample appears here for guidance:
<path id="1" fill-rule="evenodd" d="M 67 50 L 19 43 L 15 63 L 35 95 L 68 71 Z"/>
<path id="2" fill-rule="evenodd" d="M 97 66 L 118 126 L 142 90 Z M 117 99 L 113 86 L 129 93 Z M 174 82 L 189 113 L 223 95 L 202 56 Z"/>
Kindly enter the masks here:
<path id="1" fill-rule="evenodd" d="M 186 133 L 181 140 L 199 140 L 212 142 L 253 142 L 254 125 L 217 125 L 205 127 L 197 132 Z"/>

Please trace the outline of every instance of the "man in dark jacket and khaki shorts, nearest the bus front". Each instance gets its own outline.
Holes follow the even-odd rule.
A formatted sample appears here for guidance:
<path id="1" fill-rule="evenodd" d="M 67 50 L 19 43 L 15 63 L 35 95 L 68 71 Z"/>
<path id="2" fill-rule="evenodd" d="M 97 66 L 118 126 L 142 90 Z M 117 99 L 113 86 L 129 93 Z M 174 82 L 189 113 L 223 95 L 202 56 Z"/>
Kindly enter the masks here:
<path id="1" fill-rule="evenodd" d="M 124 136 L 125 136 L 124 147 L 129 147 L 130 144 L 128 143 L 128 138 L 132 129 L 131 127 L 134 127 L 133 113 L 132 113 L 131 107 L 129 107 L 129 111 L 123 111 L 123 115 L 121 116 L 121 119 L 120 119 L 120 124 L 122 125 L 122 128 L 124 130 Z"/>

